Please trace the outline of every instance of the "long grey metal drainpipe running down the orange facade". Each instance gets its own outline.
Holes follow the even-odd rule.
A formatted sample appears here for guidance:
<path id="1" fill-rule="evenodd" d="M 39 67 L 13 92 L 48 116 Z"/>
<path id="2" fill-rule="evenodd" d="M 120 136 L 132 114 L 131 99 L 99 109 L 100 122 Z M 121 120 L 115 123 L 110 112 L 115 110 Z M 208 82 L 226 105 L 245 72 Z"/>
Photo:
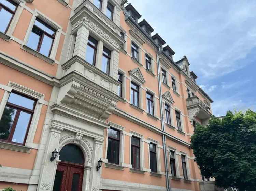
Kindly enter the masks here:
<path id="1" fill-rule="evenodd" d="M 159 62 L 159 54 L 161 54 L 162 49 L 159 48 L 159 51 L 156 55 L 156 61 L 157 61 L 157 77 L 158 77 L 158 91 L 159 91 L 159 102 L 160 102 L 160 115 L 161 115 L 161 127 L 162 131 L 165 131 L 165 124 L 164 124 L 164 118 L 163 118 L 163 106 L 162 106 L 162 86 L 161 86 L 161 76 L 160 76 L 160 62 Z M 167 191 L 171 191 L 170 187 L 170 179 L 169 179 L 169 172 L 168 172 L 168 159 L 167 159 L 167 153 L 166 153 L 166 136 L 163 134 L 163 154 L 164 154 L 164 160 L 165 160 L 165 179 L 166 179 L 166 189 Z"/>

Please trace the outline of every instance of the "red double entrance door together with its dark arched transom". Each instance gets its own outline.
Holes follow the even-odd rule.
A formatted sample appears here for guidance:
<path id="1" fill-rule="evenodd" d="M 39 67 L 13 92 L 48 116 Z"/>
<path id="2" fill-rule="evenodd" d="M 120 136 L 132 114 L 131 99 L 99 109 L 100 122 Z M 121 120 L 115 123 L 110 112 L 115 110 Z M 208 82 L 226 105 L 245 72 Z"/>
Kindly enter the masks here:
<path id="1" fill-rule="evenodd" d="M 84 175 L 84 154 L 75 144 L 65 145 L 59 152 L 53 191 L 81 191 Z"/>

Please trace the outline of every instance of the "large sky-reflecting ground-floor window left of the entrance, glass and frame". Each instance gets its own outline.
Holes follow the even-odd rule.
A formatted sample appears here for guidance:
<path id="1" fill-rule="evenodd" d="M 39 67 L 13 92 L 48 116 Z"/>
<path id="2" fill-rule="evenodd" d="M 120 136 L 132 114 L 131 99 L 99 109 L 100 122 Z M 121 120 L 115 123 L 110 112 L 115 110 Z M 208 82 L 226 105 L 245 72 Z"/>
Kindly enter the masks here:
<path id="1" fill-rule="evenodd" d="M 36 100 L 11 92 L 0 120 L 0 139 L 25 144 Z"/>

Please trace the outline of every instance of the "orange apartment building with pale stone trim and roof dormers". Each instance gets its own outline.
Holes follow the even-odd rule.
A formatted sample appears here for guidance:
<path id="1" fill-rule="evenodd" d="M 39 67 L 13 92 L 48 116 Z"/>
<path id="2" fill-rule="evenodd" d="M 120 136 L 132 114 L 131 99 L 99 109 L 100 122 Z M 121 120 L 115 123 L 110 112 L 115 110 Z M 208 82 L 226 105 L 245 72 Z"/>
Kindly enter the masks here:
<path id="1" fill-rule="evenodd" d="M 212 116 L 125 0 L 0 0 L 0 189 L 196 190 Z"/>

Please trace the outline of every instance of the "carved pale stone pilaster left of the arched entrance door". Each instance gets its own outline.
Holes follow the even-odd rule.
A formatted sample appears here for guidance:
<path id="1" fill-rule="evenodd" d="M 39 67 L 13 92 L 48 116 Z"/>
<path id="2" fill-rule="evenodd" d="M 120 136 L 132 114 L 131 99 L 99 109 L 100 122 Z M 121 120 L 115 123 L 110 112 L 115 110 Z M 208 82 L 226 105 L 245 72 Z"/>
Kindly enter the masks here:
<path id="1" fill-rule="evenodd" d="M 62 128 L 56 126 L 50 126 L 50 133 L 48 137 L 48 143 L 44 153 L 44 159 L 42 163 L 40 179 L 38 182 L 37 191 L 51 191 L 53 190 L 53 183 L 56 172 L 56 161 L 50 161 L 52 157 L 52 151 L 59 148 L 60 133 L 63 131 Z"/>

